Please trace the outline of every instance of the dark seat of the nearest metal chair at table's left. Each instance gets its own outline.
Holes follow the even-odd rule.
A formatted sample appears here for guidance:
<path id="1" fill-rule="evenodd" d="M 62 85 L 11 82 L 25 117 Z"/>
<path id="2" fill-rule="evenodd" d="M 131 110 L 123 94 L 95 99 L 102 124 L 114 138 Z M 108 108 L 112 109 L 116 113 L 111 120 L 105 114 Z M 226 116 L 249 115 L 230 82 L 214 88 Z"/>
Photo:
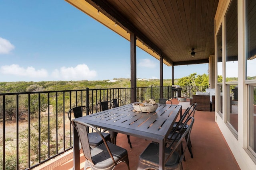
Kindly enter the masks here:
<path id="1" fill-rule="evenodd" d="M 126 157 L 127 155 L 126 149 L 118 147 L 117 145 L 114 145 L 109 142 L 107 142 L 107 144 L 115 161 L 119 160 L 122 157 Z M 92 155 L 92 161 L 95 165 L 94 166 L 95 168 L 100 167 L 101 169 L 104 169 L 113 164 L 112 158 L 110 157 L 104 143 L 92 149 L 91 155 Z M 86 161 L 86 163 L 91 164 L 91 162 L 89 161 Z"/>

